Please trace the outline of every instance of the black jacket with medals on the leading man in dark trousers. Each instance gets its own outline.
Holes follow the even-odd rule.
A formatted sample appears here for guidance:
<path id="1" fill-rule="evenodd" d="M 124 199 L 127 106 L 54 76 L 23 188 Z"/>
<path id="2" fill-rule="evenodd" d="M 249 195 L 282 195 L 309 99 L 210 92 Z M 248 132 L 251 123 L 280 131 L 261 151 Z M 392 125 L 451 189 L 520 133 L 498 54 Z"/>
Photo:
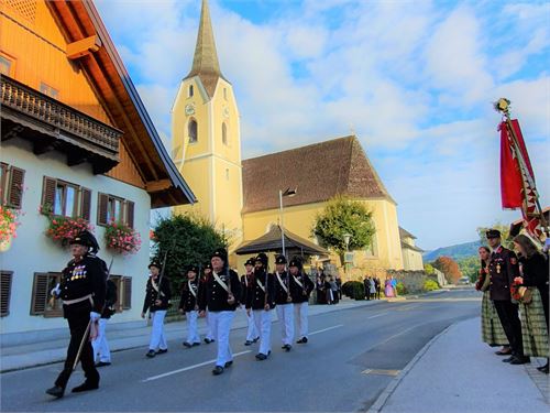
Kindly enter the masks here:
<path id="1" fill-rule="evenodd" d="M 106 280 L 107 265 L 100 258 L 88 253 L 78 262 L 70 260 L 62 271 L 59 297 L 63 301 L 72 301 L 91 295 L 94 304 L 90 300 L 64 304 L 63 316 L 70 318 L 90 311 L 101 314 L 107 290 Z"/>

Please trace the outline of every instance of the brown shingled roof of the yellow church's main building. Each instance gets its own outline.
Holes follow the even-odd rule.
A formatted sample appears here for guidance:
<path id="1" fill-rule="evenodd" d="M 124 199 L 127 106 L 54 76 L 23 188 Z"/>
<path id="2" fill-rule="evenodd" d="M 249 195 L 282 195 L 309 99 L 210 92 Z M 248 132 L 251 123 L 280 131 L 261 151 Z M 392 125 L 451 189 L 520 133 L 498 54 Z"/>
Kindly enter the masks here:
<path id="1" fill-rule="evenodd" d="M 334 195 L 384 198 L 395 204 L 354 135 L 244 160 L 243 213 L 278 208 L 278 191 L 297 188 L 285 207 Z"/>

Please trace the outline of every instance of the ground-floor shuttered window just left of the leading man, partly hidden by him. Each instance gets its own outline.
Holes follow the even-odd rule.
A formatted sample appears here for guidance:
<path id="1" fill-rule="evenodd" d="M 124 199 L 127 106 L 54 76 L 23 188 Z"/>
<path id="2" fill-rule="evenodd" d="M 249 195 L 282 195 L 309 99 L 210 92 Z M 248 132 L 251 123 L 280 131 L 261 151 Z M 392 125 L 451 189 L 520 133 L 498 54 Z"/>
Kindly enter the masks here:
<path id="1" fill-rule="evenodd" d="M 31 300 L 31 315 L 44 317 L 61 317 L 63 315 L 62 301 L 53 300 L 52 289 L 61 282 L 59 272 L 35 272 Z"/>

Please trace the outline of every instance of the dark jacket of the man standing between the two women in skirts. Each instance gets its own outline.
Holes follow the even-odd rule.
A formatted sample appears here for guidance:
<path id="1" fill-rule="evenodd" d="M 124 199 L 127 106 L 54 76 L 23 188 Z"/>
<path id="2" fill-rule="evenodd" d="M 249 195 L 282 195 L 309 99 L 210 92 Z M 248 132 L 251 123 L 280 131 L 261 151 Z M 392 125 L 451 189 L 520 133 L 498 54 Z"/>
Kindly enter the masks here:
<path id="1" fill-rule="evenodd" d="M 491 276 L 490 292 L 493 301 L 510 301 L 510 285 L 516 276 L 519 276 L 517 257 L 503 246 L 491 253 L 488 264 Z"/>

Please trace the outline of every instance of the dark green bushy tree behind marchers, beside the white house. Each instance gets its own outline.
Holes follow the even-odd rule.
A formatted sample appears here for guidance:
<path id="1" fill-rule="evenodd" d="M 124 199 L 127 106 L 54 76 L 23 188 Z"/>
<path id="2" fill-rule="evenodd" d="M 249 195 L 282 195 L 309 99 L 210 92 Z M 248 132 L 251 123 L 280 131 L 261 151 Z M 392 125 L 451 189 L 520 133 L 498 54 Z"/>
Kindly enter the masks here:
<path id="1" fill-rule="evenodd" d="M 154 256 L 163 260 L 167 251 L 165 275 L 174 291 L 178 291 L 187 265 L 201 265 L 210 254 L 227 241 L 206 218 L 193 215 L 173 215 L 158 219 L 154 228 Z"/>

